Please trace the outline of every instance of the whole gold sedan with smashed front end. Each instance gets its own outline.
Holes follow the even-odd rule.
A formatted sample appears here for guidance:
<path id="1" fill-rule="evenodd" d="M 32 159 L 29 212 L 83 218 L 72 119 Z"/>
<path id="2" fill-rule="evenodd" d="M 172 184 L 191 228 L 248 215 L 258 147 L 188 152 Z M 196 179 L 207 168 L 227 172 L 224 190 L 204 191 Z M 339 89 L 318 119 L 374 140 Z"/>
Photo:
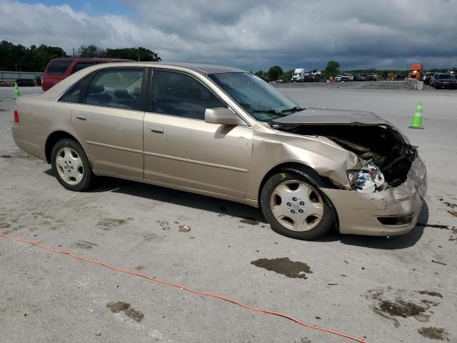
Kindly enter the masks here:
<path id="1" fill-rule="evenodd" d="M 417 146 L 388 121 L 305 109 L 223 66 L 90 66 L 17 99 L 12 132 L 71 191 L 100 175 L 229 199 L 260 207 L 273 230 L 297 239 L 335 226 L 403 234 L 427 188 Z"/>

